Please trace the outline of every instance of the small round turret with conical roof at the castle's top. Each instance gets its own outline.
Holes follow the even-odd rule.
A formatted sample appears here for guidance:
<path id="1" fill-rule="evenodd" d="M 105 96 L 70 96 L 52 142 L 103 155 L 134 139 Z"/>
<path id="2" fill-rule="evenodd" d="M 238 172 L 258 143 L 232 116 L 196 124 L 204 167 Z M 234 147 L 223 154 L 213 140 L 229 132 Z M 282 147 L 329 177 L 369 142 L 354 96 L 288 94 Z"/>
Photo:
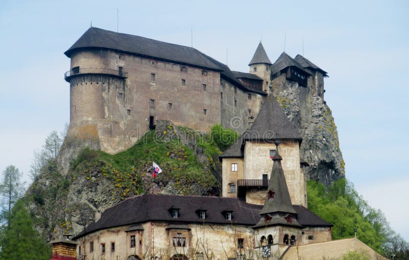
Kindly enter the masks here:
<path id="1" fill-rule="evenodd" d="M 264 50 L 261 41 L 259 46 L 254 53 L 254 56 L 248 66 L 250 66 L 250 73 L 255 74 L 264 80 L 263 82 L 263 91 L 268 93 L 269 92 L 269 84 L 270 84 L 270 66 L 271 61 L 267 56 L 267 53 Z"/>

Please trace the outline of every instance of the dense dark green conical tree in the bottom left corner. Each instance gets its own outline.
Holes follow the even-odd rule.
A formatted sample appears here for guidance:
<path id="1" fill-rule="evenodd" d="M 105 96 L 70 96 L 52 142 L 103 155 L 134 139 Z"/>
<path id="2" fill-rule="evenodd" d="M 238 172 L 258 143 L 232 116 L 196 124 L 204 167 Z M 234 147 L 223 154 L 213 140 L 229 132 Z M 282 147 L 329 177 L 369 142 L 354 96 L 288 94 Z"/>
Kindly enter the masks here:
<path id="1" fill-rule="evenodd" d="M 50 257 L 50 246 L 40 239 L 24 203 L 18 200 L 5 228 L 0 260 L 49 260 Z"/>

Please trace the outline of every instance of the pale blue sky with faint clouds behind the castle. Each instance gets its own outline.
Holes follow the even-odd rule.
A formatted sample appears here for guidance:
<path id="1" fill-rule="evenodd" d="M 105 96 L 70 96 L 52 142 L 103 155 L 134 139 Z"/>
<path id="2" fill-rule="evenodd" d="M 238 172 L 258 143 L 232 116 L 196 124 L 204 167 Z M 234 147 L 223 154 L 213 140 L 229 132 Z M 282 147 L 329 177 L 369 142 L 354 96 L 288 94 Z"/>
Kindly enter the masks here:
<path id="1" fill-rule="evenodd" d="M 69 83 L 63 75 L 70 59 L 63 52 L 91 23 L 193 44 L 242 72 L 248 72 L 262 40 L 272 62 L 285 46 L 290 56 L 304 52 L 329 73 L 325 100 L 337 125 L 346 177 L 409 241 L 408 11 L 407 1 L 375 0 L 2 0 L 0 171 L 13 164 L 29 182 L 33 150 L 69 122 Z"/>

